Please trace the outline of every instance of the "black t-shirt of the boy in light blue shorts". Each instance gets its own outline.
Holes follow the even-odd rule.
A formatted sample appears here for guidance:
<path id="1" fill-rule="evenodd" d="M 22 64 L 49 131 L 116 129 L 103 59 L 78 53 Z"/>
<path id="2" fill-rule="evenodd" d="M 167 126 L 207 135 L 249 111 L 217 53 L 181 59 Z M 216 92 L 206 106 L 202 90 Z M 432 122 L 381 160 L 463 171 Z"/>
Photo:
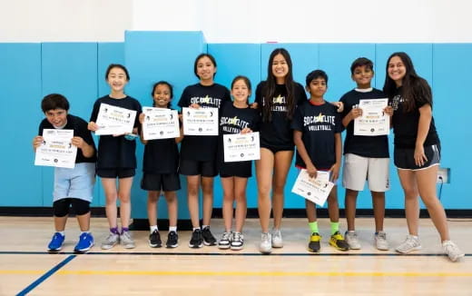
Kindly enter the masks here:
<path id="1" fill-rule="evenodd" d="M 49 123 L 47 119 L 39 124 L 38 134 L 43 134 L 44 129 L 54 129 L 54 125 Z M 81 137 L 85 143 L 93 146 L 94 153 L 92 157 L 85 157 L 82 149 L 77 149 L 77 156 L 75 156 L 75 163 L 95 163 L 97 161 L 95 143 L 93 143 L 92 133 L 87 129 L 87 122 L 84 119 L 67 114 L 67 123 L 63 127 L 64 130 L 74 130 L 74 137 Z"/>

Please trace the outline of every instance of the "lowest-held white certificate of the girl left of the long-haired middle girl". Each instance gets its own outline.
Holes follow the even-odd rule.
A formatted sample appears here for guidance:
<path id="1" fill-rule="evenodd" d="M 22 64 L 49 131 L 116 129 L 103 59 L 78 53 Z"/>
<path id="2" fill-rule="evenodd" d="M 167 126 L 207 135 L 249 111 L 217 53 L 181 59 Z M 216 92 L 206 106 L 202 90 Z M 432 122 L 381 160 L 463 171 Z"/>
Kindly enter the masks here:
<path id="1" fill-rule="evenodd" d="M 223 134 L 224 162 L 245 162 L 261 159 L 259 133 Z"/>

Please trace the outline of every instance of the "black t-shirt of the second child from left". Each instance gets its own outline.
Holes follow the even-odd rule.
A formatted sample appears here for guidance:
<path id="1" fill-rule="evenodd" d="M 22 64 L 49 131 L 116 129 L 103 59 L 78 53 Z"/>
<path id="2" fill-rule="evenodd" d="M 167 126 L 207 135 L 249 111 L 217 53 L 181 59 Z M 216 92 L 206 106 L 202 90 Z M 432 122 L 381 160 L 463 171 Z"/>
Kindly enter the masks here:
<path id="1" fill-rule="evenodd" d="M 111 104 L 113 106 L 136 111 L 134 127 L 139 127 L 139 114 L 142 113 L 141 104 L 131 96 L 123 99 L 113 99 L 105 95 L 93 104 L 90 121 L 96 123 L 100 104 Z M 136 168 L 136 141 L 126 140 L 123 135 L 113 137 L 113 135 L 101 135 L 98 141 L 98 161 L 97 168 Z"/>

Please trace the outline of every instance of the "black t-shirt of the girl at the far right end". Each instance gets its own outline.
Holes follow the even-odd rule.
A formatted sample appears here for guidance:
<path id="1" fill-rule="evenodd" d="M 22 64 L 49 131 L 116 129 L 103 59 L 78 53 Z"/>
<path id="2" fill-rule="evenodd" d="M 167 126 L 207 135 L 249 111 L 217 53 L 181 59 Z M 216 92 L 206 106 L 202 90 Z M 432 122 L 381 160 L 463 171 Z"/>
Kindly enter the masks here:
<path id="1" fill-rule="evenodd" d="M 418 123 L 419 123 L 419 108 L 428 104 L 425 101 L 416 101 L 416 106 L 413 111 L 404 112 L 404 99 L 401 96 L 401 87 L 397 89 L 395 96 L 390 100 L 393 107 L 393 133 L 395 134 L 394 144 L 397 148 L 414 149 L 417 143 Z M 439 143 L 438 133 L 434 124 L 434 118 L 431 118 L 429 123 L 428 135 L 426 137 L 424 146 L 434 145 Z"/>

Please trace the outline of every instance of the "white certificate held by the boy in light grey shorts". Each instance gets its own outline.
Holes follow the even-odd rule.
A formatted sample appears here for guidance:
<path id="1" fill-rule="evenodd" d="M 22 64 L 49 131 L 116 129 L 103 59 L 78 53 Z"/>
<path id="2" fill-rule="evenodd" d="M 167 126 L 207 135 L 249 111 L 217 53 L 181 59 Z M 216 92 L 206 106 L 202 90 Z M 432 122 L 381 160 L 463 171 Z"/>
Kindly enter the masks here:
<path id="1" fill-rule="evenodd" d="M 390 116 L 383 112 L 388 99 L 360 100 L 362 116 L 354 120 L 354 135 L 382 135 L 390 131 Z"/>

